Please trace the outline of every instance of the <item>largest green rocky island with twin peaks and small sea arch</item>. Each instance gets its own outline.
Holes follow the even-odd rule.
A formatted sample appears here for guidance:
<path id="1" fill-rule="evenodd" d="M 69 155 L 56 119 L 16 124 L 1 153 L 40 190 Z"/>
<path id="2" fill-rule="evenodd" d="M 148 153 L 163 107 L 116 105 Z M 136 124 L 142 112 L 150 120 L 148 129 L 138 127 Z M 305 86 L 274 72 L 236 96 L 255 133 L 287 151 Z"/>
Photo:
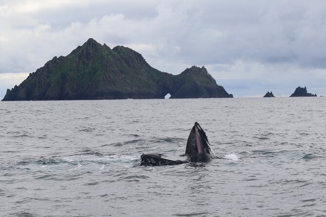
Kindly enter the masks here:
<path id="1" fill-rule="evenodd" d="M 233 97 L 204 67 L 193 66 L 173 75 L 151 67 L 141 54 L 116 46 L 111 49 L 88 39 L 67 56 L 55 56 L 2 101 L 164 99 Z"/>

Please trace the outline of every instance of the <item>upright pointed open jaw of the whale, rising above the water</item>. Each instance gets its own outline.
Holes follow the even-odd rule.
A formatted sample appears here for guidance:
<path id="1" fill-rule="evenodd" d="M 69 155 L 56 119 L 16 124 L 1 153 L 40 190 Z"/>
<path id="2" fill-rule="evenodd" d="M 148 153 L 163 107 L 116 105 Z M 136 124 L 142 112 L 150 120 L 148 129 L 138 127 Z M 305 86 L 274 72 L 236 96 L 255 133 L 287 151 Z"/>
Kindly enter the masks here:
<path id="1" fill-rule="evenodd" d="M 190 131 L 185 154 L 189 156 L 213 155 L 206 133 L 197 122 Z"/>

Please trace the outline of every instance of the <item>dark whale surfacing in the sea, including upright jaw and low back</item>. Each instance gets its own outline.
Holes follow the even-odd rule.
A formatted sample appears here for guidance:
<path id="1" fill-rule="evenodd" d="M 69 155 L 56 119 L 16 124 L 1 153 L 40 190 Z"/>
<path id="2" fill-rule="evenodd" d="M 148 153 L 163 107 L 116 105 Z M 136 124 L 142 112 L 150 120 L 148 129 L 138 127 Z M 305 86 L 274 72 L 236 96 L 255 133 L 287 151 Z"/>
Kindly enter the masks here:
<path id="1" fill-rule="evenodd" d="M 210 143 L 208 142 L 207 136 L 205 131 L 200 127 L 200 125 L 195 122 L 194 126 L 192 127 L 187 145 L 186 145 L 186 152 L 184 156 L 188 157 L 187 161 L 181 160 L 169 160 L 166 159 L 165 155 L 163 154 L 142 154 L 140 156 L 140 163 L 139 165 L 144 166 L 160 166 L 160 165 L 175 165 L 175 164 L 182 164 L 191 162 L 203 162 L 207 161 L 208 159 L 213 156 L 213 151 L 211 150 Z M 164 158 L 163 158 L 164 157 Z"/>

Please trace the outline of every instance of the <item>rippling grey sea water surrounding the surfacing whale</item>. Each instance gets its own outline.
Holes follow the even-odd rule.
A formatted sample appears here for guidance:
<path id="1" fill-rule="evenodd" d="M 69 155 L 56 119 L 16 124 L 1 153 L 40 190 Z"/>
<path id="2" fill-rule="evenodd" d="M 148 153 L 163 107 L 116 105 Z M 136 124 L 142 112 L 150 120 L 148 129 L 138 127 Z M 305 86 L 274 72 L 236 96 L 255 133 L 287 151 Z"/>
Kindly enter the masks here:
<path id="1" fill-rule="evenodd" d="M 194 122 L 216 156 L 180 159 Z M 326 97 L 0 102 L 0 216 L 326 216 Z"/>

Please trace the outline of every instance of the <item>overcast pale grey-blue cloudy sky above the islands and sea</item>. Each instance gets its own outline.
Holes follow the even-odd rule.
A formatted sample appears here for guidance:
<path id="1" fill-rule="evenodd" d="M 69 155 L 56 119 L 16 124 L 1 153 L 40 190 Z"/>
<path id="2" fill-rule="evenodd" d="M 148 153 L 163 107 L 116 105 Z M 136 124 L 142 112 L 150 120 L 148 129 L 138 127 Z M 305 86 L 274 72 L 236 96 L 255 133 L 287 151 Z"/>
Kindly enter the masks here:
<path id="1" fill-rule="evenodd" d="M 234 97 L 326 95 L 325 0 L 0 0 L 0 98 L 88 38 L 162 72 L 205 68 Z"/>

